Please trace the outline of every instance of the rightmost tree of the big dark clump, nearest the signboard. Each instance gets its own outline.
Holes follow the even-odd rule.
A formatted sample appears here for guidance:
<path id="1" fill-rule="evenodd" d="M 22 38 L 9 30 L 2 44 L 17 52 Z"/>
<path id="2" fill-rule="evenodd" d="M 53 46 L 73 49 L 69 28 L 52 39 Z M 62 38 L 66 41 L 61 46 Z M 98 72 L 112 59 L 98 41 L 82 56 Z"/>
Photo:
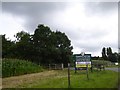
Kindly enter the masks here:
<path id="1" fill-rule="evenodd" d="M 58 54 L 57 60 L 58 62 L 64 62 L 64 64 L 67 64 L 68 62 L 70 62 L 70 58 L 72 55 L 71 50 L 73 49 L 73 47 L 71 46 L 71 41 L 68 39 L 65 33 L 56 31 L 55 34 L 56 34 L 56 40 L 57 40 L 56 48 L 60 50 L 60 55 Z"/>

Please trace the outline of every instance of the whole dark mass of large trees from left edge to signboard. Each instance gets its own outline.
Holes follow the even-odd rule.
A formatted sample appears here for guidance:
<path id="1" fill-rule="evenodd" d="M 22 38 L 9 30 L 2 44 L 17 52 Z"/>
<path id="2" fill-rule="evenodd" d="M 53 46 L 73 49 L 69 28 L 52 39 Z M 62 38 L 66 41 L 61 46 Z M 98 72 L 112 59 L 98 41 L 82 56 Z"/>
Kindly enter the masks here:
<path id="1" fill-rule="evenodd" d="M 70 62 L 71 41 L 60 31 L 52 31 L 48 26 L 38 25 L 34 34 L 21 31 L 16 35 L 16 41 L 11 42 L 3 35 L 3 58 L 18 58 L 37 64 Z"/>

